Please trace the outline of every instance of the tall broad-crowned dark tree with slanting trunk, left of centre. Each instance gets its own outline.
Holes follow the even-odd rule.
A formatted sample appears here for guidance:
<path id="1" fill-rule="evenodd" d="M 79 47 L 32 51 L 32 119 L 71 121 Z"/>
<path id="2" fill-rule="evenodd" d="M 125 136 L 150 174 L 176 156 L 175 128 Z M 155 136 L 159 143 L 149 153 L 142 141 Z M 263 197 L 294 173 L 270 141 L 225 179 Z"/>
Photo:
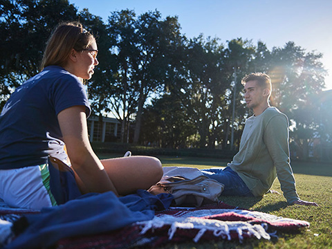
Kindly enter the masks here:
<path id="1" fill-rule="evenodd" d="M 118 63 L 112 111 L 129 122 L 135 112 L 133 142 L 140 136 L 142 111 L 152 94 L 163 91 L 172 70 L 172 57 L 181 44 L 180 26 L 176 17 L 162 20 L 160 12 L 146 12 L 136 18 L 132 10 L 113 12 L 109 17 L 109 35 L 116 44 L 111 48 Z"/>

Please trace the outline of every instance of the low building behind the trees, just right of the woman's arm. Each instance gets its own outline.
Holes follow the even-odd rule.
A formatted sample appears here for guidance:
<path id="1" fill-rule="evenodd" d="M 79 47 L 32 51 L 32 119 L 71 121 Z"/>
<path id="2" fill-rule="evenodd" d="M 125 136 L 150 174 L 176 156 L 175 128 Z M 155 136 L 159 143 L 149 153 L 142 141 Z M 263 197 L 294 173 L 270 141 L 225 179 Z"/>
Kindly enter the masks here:
<path id="1" fill-rule="evenodd" d="M 88 119 L 90 142 L 116 142 L 121 136 L 120 122 L 116 118 L 102 117 L 102 123 L 98 116 Z"/>

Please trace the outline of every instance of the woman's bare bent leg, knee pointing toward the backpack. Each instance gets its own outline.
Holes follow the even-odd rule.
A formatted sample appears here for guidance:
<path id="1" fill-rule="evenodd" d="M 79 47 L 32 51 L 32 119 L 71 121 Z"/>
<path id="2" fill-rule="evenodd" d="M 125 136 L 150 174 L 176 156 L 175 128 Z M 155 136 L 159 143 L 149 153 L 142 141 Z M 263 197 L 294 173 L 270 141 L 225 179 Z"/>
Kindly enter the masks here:
<path id="1" fill-rule="evenodd" d="M 101 162 L 120 195 L 147 190 L 163 176 L 160 160 L 151 156 L 111 158 Z"/>

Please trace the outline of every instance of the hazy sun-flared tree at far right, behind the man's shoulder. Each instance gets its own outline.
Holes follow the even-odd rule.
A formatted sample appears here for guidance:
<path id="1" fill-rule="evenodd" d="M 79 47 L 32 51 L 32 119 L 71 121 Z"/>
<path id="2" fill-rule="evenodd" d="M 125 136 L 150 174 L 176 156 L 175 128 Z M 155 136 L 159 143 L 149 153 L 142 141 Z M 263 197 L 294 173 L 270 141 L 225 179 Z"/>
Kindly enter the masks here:
<path id="1" fill-rule="evenodd" d="M 304 48 L 288 42 L 284 48 L 273 48 L 268 74 L 273 83 L 271 102 L 286 113 L 295 127 L 292 136 L 308 156 L 308 144 L 319 127 L 317 106 L 311 95 L 324 88 L 326 71 L 321 53 L 306 53 Z"/>

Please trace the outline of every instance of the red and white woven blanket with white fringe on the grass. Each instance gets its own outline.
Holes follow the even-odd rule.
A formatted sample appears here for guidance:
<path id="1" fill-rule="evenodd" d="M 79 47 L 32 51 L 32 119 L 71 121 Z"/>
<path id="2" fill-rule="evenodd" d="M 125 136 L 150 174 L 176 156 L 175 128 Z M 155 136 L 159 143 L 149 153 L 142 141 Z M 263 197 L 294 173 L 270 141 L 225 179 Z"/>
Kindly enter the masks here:
<path id="1" fill-rule="evenodd" d="M 156 212 L 154 219 L 138 221 L 126 228 L 92 237 L 58 241 L 55 248 L 159 248 L 167 243 L 187 241 L 270 239 L 278 232 L 298 232 L 309 223 L 295 219 L 240 210 L 223 202 L 202 208 L 170 208 Z"/>

